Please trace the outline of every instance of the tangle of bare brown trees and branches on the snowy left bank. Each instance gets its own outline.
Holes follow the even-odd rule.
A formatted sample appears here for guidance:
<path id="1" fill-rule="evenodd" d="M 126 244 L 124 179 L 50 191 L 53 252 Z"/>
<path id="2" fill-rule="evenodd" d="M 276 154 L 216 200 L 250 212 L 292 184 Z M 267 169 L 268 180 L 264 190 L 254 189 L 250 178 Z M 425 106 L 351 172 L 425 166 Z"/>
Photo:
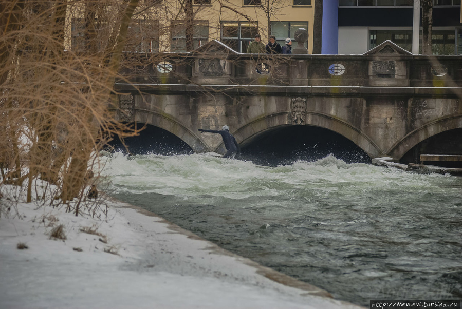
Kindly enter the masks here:
<path id="1" fill-rule="evenodd" d="M 114 122 L 107 103 L 138 0 L 104 4 L 104 8 L 97 1 L 0 4 L 0 57 L 5 64 L 0 69 L 0 140 L 5 146 L 0 148 L 0 185 L 21 185 L 27 179 L 27 201 L 39 179 L 56 185 L 53 195 L 63 202 L 84 199 L 90 157 L 107 140 L 103 132 L 133 134 Z M 64 38 L 71 26 L 66 13 L 81 8 L 86 52 L 65 51 Z M 104 10 L 113 26 L 108 40 L 101 42 L 95 17 Z M 116 38 L 112 44 L 110 38 Z M 75 211 L 77 215 L 78 207 Z"/>

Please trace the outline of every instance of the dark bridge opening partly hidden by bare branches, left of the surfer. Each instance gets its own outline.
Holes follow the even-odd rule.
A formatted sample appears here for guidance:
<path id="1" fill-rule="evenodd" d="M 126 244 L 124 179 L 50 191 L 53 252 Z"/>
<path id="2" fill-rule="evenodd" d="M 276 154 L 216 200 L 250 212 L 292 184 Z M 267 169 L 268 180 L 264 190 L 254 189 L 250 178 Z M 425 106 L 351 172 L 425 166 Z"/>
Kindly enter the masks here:
<path id="1" fill-rule="evenodd" d="M 142 127 L 143 124 L 133 123 L 133 125 Z M 123 146 L 119 137 L 109 143 L 114 147 L 114 151 L 121 151 L 130 154 L 161 154 L 163 156 L 172 156 L 175 154 L 192 154 L 194 150 L 186 142 L 182 141 L 175 134 L 162 128 L 146 125 L 138 136 L 125 139 L 125 145 L 128 151 Z"/>

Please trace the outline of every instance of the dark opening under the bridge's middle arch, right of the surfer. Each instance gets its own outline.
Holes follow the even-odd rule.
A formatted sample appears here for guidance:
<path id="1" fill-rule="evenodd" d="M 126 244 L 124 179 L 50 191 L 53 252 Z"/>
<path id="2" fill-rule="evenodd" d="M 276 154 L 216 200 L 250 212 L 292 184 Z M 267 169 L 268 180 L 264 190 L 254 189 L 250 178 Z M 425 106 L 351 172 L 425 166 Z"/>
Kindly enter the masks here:
<path id="1" fill-rule="evenodd" d="M 334 155 L 347 163 L 370 163 L 368 154 L 332 130 L 316 126 L 285 125 L 255 134 L 242 145 L 244 159 L 268 166 L 316 161 Z"/>

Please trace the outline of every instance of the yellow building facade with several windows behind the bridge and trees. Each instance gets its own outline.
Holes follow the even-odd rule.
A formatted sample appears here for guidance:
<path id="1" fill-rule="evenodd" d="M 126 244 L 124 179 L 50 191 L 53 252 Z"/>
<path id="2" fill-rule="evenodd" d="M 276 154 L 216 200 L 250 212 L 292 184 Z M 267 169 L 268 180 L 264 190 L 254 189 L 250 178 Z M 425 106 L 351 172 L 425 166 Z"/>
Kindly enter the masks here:
<path id="1" fill-rule="evenodd" d="M 193 30 L 194 48 L 218 40 L 243 53 L 257 33 L 265 44 L 271 34 L 284 45 L 287 37 L 293 40 L 295 31 L 305 28 L 309 33 L 307 48 L 312 50 L 313 0 L 167 0 L 140 1 L 140 4 L 128 29 L 126 51 L 184 52 L 188 27 Z M 188 4 L 191 4 L 189 20 L 185 13 Z M 68 13 L 70 50 L 80 51 L 85 47 L 84 32 L 88 25 L 83 14 L 84 10 L 78 6 Z M 109 32 L 105 29 L 110 28 L 103 17 L 95 16 L 95 31 L 101 38 Z"/>

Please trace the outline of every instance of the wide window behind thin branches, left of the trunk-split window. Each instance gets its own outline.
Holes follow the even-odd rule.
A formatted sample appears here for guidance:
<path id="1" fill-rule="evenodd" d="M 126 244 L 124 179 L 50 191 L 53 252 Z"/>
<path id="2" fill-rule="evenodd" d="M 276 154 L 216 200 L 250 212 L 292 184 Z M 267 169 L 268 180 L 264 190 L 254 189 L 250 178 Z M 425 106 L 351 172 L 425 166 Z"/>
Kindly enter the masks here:
<path id="1" fill-rule="evenodd" d="M 158 52 L 159 22 L 136 20 L 128 26 L 125 51 Z"/>

